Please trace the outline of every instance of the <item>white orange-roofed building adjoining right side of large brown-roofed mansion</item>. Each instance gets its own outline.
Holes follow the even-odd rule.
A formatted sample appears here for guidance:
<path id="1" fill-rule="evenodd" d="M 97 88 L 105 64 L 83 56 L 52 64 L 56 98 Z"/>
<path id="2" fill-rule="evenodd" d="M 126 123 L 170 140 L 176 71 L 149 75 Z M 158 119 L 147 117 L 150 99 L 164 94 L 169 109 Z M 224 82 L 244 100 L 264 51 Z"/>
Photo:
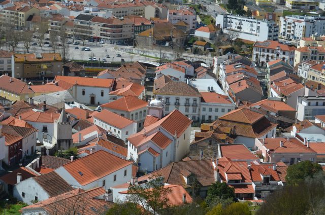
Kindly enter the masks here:
<path id="1" fill-rule="evenodd" d="M 215 92 L 200 92 L 201 94 L 201 122 L 212 122 L 225 113 L 235 110 L 236 105 L 228 96 Z"/>

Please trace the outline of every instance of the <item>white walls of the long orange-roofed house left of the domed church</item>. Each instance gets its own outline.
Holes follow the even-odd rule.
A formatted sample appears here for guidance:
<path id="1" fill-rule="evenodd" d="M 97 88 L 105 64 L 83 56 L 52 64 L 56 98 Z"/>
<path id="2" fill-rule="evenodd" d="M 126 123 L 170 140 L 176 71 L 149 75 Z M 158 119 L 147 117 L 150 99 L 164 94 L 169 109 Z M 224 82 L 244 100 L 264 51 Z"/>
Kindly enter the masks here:
<path id="1" fill-rule="evenodd" d="M 100 120 L 94 116 L 93 123 L 95 125 L 98 125 L 99 127 L 111 131 L 113 135 L 117 136 L 118 138 L 126 141 L 126 138 L 134 133 L 137 133 L 137 123 L 133 122 L 123 128 L 118 128 L 117 126 L 110 125 L 107 122 L 104 122 L 103 120 Z"/>

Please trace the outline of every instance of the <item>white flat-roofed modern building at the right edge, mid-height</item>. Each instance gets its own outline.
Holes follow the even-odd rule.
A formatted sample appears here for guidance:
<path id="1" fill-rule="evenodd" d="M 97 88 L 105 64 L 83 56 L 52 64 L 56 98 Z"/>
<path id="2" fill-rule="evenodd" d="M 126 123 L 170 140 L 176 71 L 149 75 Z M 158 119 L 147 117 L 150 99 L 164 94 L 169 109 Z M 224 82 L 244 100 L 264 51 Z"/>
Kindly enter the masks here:
<path id="1" fill-rule="evenodd" d="M 297 102 L 297 119 L 314 120 L 316 115 L 325 114 L 325 97 L 299 96 Z"/>

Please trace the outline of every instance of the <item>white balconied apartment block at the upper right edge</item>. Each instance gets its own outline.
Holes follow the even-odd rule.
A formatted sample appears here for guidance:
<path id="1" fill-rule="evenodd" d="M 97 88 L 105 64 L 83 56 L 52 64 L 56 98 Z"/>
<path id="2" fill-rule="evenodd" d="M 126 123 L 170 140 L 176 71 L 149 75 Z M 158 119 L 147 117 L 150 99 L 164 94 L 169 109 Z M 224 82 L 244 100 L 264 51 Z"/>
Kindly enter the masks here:
<path id="1" fill-rule="evenodd" d="M 280 38 L 300 40 L 317 33 L 325 33 L 325 17 L 321 16 L 286 16 L 280 17 Z"/>

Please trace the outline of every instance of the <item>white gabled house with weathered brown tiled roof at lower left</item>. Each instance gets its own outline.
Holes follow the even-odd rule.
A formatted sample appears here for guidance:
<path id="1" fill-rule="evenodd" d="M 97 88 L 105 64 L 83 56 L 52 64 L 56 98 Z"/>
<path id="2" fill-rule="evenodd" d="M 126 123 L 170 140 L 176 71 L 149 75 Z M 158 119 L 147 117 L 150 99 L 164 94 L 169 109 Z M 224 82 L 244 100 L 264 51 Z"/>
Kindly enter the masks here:
<path id="1" fill-rule="evenodd" d="M 72 191 L 73 188 L 69 184 L 52 171 L 20 181 L 13 188 L 13 196 L 26 204 L 32 204 Z"/>

